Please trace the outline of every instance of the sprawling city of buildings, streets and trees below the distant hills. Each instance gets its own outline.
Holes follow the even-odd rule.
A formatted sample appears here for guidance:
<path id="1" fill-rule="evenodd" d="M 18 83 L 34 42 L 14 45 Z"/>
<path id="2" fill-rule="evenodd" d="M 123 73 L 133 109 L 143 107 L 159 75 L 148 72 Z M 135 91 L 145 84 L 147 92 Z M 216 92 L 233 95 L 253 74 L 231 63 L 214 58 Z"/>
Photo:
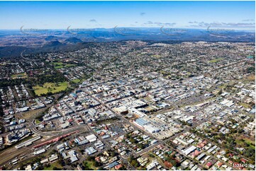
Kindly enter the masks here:
<path id="1" fill-rule="evenodd" d="M 255 170 L 255 33 L 27 39 L 44 36 L 70 42 L 0 37 L 1 170 Z"/>

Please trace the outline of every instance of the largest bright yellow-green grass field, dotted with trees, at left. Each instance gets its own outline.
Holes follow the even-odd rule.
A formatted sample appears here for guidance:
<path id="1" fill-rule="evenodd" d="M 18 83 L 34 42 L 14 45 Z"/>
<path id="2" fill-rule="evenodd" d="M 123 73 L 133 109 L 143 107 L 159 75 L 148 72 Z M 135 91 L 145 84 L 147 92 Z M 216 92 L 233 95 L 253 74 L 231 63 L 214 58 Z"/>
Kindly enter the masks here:
<path id="1" fill-rule="evenodd" d="M 62 90 L 66 90 L 68 82 L 62 83 L 44 83 L 43 86 L 33 86 L 36 95 L 46 94 L 48 92 L 58 93 Z"/>

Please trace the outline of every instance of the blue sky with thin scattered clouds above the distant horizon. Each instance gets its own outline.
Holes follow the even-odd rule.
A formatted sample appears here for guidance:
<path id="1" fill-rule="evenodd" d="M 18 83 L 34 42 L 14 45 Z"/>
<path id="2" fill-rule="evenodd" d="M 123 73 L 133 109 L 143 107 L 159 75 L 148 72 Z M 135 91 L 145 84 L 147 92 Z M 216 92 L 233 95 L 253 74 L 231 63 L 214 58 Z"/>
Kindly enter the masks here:
<path id="1" fill-rule="evenodd" d="M 0 1 L 0 29 L 22 26 L 255 30 L 255 1 Z"/>

